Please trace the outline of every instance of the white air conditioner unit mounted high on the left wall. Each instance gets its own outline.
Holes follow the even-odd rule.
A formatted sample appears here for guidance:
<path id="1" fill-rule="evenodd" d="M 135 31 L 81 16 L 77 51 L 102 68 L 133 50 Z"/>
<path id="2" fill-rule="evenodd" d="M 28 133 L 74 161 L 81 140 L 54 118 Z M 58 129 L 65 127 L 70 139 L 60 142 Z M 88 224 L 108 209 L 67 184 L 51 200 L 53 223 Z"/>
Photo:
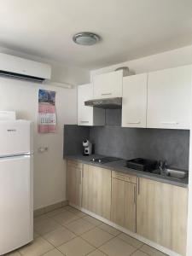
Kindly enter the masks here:
<path id="1" fill-rule="evenodd" d="M 50 79 L 50 75 L 48 64 L 0 53 L 0 76 L 42 83 Z"/>

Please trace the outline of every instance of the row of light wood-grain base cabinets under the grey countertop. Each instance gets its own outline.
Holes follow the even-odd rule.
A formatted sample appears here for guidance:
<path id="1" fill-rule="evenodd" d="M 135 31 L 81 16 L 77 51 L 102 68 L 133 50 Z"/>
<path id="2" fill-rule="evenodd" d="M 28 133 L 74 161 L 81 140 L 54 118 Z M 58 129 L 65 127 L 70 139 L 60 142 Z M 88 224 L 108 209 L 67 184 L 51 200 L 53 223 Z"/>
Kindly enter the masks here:
<path id="1" fill-rule="evenodd" d="M 187 188 L 67 160 L 67 199 L 186 255 Z"/>

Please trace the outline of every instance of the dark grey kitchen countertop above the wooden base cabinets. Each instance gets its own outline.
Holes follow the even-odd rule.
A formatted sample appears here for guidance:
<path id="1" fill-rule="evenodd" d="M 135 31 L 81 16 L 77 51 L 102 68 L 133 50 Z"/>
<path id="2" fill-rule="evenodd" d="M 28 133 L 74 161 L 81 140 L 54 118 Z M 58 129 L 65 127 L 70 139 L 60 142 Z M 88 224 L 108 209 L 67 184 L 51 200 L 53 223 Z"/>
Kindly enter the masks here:
<path id="1" fill-rule="evenodd" d="M 168 183 L 168 184 L 176 185 L 179 187 L 188 188 L 188 183 L 189 183 L 188 177 L 183 178 L 182 180 L 177 180 L 176 178 L 161 176 L 159 174 L 154 174 L 151 172 L 137 171 L 135 169 L 126 167 L 125 166 L 126 160 L 118 160 L 118 161 L 108 162 L 104 164 L 90 161 L 92 158 L 96 159 L 96 158 L 102 158 L 102 157 L 105 157 L 105 155 L 100 155 L 100 154 L 91 154 L 89 156 L 84 156 L 83 154 L 64 155 L 64 159 L 66 160 L 78 160 L 79 162 L 87 165 L 103 167 L 115 172 L 132 174 L 137 177 L 146 177 L 148 179 L 152 179 L 154 181 L 158 181 L 161 183 Z"/>

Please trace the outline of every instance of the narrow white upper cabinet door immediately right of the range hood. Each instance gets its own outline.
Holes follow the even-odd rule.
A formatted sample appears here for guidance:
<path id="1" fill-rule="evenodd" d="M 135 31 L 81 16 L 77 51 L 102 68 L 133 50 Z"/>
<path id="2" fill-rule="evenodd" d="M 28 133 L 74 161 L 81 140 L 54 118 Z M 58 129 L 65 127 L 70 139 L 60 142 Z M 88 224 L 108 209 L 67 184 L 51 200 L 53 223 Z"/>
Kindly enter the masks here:
<path id="1" fill-rule="evenodd" d="M 123 79 L 122 126 L 146 127 L 147 73 Z"/>

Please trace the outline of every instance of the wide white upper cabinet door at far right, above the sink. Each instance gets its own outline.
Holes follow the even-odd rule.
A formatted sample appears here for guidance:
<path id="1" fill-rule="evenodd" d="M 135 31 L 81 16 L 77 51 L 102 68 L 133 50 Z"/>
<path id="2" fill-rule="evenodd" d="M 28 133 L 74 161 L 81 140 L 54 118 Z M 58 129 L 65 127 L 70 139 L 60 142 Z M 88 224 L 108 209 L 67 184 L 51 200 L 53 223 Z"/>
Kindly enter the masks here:
<path id="1" fill-rule="evenodd" d="M 191 66 L 148 73 L 148 128 L 189 129 Z"/>

